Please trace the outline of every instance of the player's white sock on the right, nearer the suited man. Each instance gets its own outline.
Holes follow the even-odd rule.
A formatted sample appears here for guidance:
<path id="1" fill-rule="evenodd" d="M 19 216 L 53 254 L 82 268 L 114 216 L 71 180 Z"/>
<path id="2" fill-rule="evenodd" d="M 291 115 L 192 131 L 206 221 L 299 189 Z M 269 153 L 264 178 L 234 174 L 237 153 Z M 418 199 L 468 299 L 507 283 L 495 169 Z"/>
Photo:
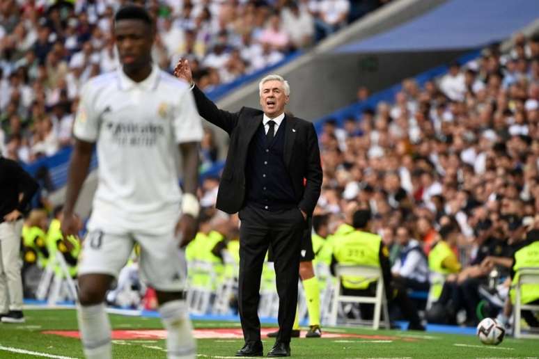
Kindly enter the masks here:
<path id="1" fill-rule="evenodd" d="M 159 307 L 166 329 L 166 351 L 169 359 L 196 357 L 196 342 L 185 301 L 169 301 Z"/>

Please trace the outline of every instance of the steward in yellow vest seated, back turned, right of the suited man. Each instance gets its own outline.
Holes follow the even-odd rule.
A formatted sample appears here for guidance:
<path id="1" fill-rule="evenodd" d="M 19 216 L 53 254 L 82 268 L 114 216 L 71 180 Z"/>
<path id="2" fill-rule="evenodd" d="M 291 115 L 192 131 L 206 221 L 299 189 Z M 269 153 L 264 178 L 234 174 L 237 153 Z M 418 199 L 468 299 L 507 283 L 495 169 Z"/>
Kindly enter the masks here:
<path id="1" fill-rule="evenodd" d="M 414 304 L 404 290 L 393 290 L 391 287 L 391 267 L 389 250 L 382 242 L 382 237 L 368 232 L 370 211 L 360 209 L 354 213 L 355 230 L 343 237 L 336 237 L 332 244 L 331 271 L 336 264 L 373 266 L 380 268 L 384 281 L 386 298 L 390 305 L 398 305 L 405 319 L 409 321 L 409 329 L 425 330 L 417 314 Z M 343 276 L 341 278 L 343 294 L 349 296 L 375 296 L 376 285 L 372 280 L 361 276 Z M 362 319 L 373 317 L 373 304 L 359 305 Z"/>

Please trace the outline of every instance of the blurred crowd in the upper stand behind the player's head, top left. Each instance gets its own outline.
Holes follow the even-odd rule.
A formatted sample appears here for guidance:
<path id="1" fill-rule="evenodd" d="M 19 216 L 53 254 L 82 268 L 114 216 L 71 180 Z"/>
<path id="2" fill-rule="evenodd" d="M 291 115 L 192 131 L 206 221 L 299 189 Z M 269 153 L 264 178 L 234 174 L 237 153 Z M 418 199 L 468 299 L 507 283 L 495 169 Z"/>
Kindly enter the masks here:
<path id="1" fill-rule="evenodd" d="M 387 1 L 151 1 L 153 58 L 189 58 L 211 90 L 305 49 Z M 111 37 L 125 1 L 2 1 L 0 151 L 31 163 L 71 144 L 81 86 L 118 66 Z M 352 3 L 352 5 L 351 5 Z"/>

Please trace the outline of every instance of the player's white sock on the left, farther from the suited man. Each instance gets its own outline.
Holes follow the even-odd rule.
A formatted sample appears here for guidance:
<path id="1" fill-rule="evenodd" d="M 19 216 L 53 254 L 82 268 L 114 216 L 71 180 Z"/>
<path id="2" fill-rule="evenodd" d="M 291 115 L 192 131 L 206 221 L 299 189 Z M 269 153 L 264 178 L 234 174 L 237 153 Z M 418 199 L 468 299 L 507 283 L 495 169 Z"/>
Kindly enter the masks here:
<path id="1" fill-rule="evenodd" d="M 77 305 L 82 349 L 87 359 L 111 359 L 111 324 L 104 303 Z"/>

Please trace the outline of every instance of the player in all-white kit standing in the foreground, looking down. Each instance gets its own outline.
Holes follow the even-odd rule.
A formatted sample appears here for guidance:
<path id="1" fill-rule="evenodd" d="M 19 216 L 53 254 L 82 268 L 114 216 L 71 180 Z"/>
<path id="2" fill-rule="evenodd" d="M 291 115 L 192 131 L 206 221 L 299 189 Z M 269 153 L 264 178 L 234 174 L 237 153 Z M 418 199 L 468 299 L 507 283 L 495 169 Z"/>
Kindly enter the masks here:
<path id="1" fill-rule="evenodd" d="M 104 296 L 138 243 L 141 277 L 156 290 L 168 356 L 195 358 L 185 303 L 187 268 L 178 246 L 196 233 L 201 119 L 189 84 L 153 65 L 155 25 L 146 10 L 120 8 L 114 36 L 122 68 L 91 79 L 82 89 L 62 223 L 63 234 L 75 234 L 73 209 L 96 143 L 99 183 L 78 277 L 84 354 L 111 358 Z M 178 149 L 183 194 L 175 161 Z"/>

